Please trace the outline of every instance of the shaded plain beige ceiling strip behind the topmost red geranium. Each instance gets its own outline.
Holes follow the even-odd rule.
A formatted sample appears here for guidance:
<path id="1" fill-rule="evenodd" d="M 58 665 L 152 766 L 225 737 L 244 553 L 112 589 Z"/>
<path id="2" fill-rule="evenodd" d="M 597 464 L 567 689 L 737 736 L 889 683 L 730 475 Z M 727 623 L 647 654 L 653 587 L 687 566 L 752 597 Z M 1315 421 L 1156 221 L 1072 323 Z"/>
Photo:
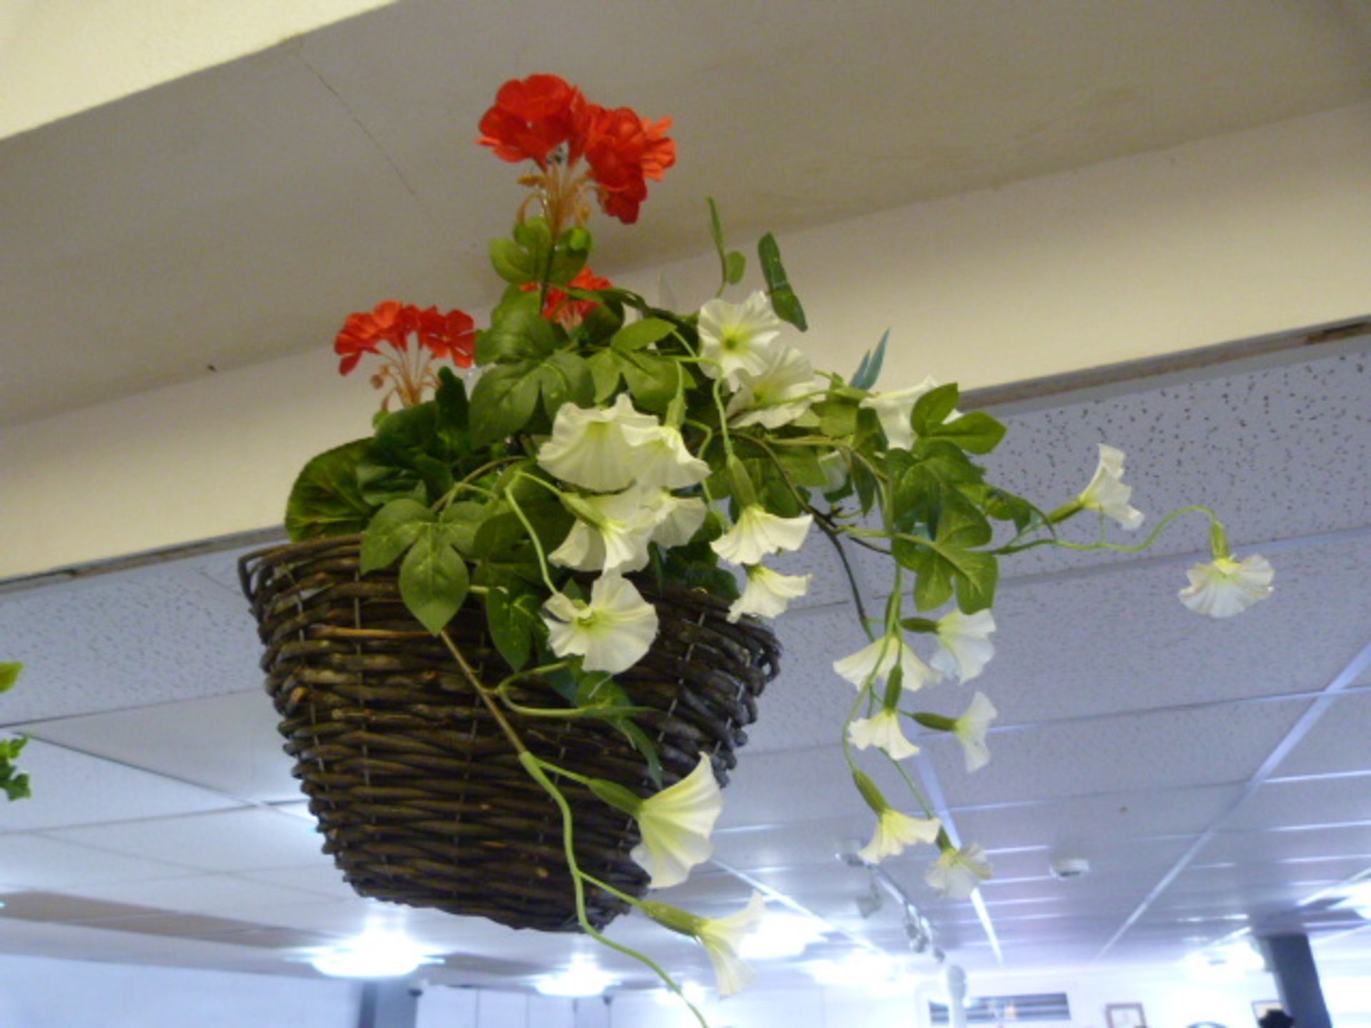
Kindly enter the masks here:
<path id="1" fill-rule="evenodd" d="M 990 188 L 1371 95 L 1361 0 L 409 0 L 0 140 L 0 424 L 328 341 L 358 297 L 480 308 L 496 85 L 673 115 L 598 266 Z M 721 112 L 727 112 L 723 117 Z"/>

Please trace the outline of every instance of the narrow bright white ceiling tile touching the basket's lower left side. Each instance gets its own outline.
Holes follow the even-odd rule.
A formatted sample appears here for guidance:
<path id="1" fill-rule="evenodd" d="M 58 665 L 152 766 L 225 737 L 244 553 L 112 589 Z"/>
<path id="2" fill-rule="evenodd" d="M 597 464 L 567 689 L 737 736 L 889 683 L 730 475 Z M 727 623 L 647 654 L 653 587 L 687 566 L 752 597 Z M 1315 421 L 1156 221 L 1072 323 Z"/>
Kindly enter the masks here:
<path id="1" fill-rule="evenodd" d="M 307 868 L 329 864 L 322 836 L 303 818 L 271 810 L 234 810 L 160 821 L 51 832 L 56 839 L 207 872 Z"/>

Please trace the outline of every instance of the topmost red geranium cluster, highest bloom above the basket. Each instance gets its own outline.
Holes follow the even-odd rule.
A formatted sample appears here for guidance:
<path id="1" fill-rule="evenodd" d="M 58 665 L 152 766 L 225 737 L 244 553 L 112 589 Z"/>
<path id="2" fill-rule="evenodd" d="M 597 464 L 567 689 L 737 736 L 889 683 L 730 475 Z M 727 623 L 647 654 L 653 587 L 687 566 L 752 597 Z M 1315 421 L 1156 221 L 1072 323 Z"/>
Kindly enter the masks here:
<path id="1" fill-rule="evenodd" d="M 647 199 L 647 180 L 659 182 L 676 163 L 670 126 L 670 118 L 650 122 L 628 107 L 592 104 L 557 75 L 529 75 L 500 86 L 481 118 L 480 143 L 505 160 L 532 160 L 544 173 L 565 145 L 566 167 L 585 158 L 605 212 L 632 223 Z"/>

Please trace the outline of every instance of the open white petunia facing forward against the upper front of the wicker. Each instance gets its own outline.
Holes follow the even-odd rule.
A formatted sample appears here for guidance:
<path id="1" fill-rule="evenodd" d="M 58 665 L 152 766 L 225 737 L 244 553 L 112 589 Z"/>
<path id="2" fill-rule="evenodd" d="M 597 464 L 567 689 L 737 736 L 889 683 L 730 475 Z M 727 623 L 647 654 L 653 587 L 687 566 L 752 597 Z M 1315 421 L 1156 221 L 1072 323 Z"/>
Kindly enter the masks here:
<path id="1" fill-rule="evenodd" d="M 590 603 L 555 592 L 543 611 L 553 652 L 580 657 L 588 672 L 628 670 L 657 639 L 657 610 L 617 574 L 595 580 Z"/>

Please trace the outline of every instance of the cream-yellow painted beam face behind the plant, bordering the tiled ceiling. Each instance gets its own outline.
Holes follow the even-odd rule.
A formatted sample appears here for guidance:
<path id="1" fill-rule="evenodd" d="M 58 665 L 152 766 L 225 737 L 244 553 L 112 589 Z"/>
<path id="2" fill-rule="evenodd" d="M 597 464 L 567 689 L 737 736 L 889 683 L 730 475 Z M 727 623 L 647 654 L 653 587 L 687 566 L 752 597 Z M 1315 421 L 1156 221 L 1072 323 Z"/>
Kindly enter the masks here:
<path id="1" fill-rule="evenodd" d="M 1366 315 L 1367 169 L 1371 104 L 798 233 L 802 343 L 850 371 L 893 326 L 887 388 L 983 387 Z M 661 274 L 683 306 L 716 281 Z M 278 524 L 300 463 L 367 432 L 333 367 L 319 340 L 0 432 L 0 577 Z"/>

